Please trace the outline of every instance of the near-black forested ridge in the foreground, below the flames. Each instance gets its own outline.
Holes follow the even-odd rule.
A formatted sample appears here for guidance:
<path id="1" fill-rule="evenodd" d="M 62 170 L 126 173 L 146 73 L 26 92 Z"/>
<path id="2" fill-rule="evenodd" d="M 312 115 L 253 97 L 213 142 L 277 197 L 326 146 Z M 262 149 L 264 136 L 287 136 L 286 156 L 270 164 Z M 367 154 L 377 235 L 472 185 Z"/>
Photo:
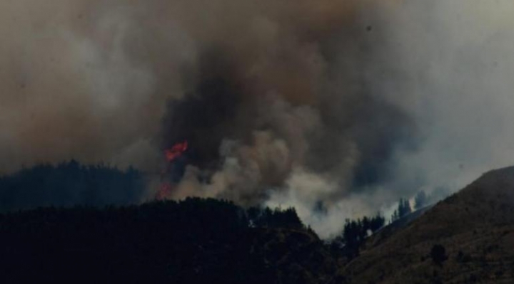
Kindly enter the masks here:
<path id="1" fill-rule="evenodd" d="M 318 283 L 335 273 L 292 209 L 272 212 L 257 223 L 295 231 L 250 226 L 253 213 L 215 199 L 0 215 L 0 282 Z"/>

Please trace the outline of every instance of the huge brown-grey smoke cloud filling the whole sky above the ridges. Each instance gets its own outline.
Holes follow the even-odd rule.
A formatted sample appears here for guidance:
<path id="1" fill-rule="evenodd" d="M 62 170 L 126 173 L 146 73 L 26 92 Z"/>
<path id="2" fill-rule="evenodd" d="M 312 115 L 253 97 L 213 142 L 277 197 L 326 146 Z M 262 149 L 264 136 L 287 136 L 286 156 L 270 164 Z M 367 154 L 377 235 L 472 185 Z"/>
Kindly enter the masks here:
<path id="1" fill-rule="evenodd" d="M 174 198 L 296 206 L 331 236 L 512 164 L 513 14 L 507 0 L 3 1 L 0 172 L 75 158 L 156 173 L 188 140 Z"/>

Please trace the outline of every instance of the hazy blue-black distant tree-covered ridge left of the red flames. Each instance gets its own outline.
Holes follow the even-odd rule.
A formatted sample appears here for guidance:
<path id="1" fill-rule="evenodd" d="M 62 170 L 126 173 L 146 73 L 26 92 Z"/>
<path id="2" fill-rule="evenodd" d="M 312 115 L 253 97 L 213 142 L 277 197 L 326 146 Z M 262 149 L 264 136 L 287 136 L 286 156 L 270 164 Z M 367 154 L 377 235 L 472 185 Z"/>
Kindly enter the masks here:
<path id="1" fill-rule="evenodd" d="M 76 161 L 39 165 L 0 177 L 0 211 L 40 206 L 126 205 L 141 200 L 145 181 L 140 172 Z"/>

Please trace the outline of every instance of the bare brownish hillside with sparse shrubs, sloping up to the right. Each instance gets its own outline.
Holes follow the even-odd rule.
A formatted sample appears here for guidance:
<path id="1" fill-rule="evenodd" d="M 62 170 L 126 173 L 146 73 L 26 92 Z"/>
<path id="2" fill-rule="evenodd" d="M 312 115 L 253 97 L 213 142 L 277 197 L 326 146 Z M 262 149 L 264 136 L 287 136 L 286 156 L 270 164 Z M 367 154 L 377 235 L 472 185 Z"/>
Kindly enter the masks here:
<path id="1" fill-rule="evenodd" d="M 430 256 L 436 245 L 445 248 L 442 263 Z M 484 174 L 392 236 L 373 236 L 340 275 L 346 283 L 366 284 L 513 283 L 513 263 L 510 167 Z"/>

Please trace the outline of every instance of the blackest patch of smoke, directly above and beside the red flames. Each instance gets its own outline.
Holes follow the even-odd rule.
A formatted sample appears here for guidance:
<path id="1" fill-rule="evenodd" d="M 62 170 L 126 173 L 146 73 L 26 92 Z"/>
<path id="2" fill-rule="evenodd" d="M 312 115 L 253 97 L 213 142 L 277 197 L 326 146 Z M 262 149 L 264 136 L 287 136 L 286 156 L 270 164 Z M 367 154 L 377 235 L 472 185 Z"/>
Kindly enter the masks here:
<path id="1" fill-rule="evenodd" d="M 195 73 L 183 75 L 185 98 L 167 103 L 161 146 L 168 149 L 187 140 L 191 145 L 188 159 L 197 167 L 217 167 L 221 142 L 235 135 L 231 125 L 236 124 L 244 95 L 228 61 L 222 53 L 202 54 L 198 68 L 190 71 Z"/>

